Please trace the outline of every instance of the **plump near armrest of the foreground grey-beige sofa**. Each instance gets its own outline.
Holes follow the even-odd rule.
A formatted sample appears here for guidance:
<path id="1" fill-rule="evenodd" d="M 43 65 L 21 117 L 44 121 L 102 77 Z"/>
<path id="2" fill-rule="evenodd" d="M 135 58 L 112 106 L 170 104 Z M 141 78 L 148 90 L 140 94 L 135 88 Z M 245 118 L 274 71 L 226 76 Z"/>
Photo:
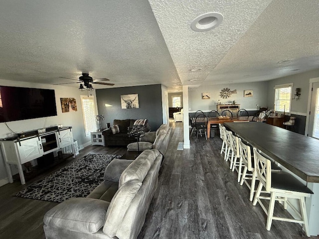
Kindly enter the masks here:
<path id="1" fill-rule="evenodd" d="M 96 233 L 105 221 L 110 203 L 93 198 L 71 198 L 50 209 L 45 225 L 83 233 Z"/>

